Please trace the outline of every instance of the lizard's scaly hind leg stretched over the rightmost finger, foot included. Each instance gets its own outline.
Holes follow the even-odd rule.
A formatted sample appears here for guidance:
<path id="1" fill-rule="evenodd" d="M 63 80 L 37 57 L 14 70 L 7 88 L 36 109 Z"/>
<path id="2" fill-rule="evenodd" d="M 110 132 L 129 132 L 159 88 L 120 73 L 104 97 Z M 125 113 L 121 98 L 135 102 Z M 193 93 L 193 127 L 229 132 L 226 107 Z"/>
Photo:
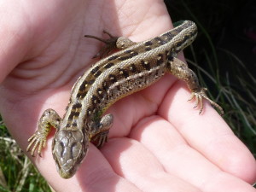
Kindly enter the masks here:
<path id="1" fill-rule="evenodd" d="M 189 98 L 189 101 L 192 100 L 195 97 L 195 107 L 198 106 L 200 103 L 200 111 L 203 110 L 203 98 L 209 101 L 212 106 L 218 108 L 220 113 L 223 115 L 224 110 L 216 103 L 213 102 L 206 94 L 207 88 L 201 87 L 198 81 L 198 78 L 196 74 L 189 69 L 188 65 L 184 63 L 183 61 L 178 60 L 176 57 L 172 57 L 166 62 L 166 69 L 168 72 L 175 75 L 178 79 L 182 79 L 189 87 L 189 90 L 191 90 L 192 94 Z"/>

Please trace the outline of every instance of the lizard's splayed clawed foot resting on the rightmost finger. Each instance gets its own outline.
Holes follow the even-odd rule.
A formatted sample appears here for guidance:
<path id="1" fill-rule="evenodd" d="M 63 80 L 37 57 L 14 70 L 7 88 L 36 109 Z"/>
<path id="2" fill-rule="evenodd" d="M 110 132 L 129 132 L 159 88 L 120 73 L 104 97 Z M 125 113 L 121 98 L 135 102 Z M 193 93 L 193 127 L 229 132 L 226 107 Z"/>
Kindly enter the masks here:
<path id="1" fill-rule="evenodd" d="M 211 105 L 215 108 L 218 108 L 218 110 L 220 111 L 221 115 L 224 114 L 224 110 L 223 108 L 221 108 L 216 102 L 213 102 L 206 94 L 207 88 L 201 88 L 201 90 L 198 91 L 193 91 L 191 93 L 191 96 L 189 98 L 188 101 L 191 101 L 193 98 L 195 98 L 195 106 L 194 108 L 198 107 L 198 104 L 200 105 L 200 110 L 199 113 L 202 112 L 203 110 L 203 99 L 206 99 L 208 102 L 211 103 Z"/>

